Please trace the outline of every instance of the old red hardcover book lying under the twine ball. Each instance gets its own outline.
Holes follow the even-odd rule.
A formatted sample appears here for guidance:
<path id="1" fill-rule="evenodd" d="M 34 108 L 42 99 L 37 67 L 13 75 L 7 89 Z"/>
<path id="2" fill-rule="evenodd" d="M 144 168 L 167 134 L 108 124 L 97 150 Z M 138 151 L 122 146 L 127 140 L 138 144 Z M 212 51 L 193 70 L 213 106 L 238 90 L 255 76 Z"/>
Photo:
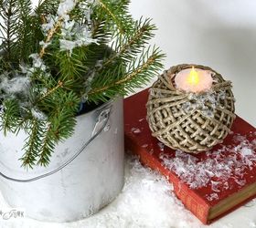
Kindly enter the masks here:
<path id="1" fill-rule="evenodd" d="M 237 117 L 221 145 L 197 155 L 167 148 L 146 121 L 148 89 L 125 98 L 126 150 L 160 171 L 202 223 L 211 223 L 256 196 L 256 130 Z"/>

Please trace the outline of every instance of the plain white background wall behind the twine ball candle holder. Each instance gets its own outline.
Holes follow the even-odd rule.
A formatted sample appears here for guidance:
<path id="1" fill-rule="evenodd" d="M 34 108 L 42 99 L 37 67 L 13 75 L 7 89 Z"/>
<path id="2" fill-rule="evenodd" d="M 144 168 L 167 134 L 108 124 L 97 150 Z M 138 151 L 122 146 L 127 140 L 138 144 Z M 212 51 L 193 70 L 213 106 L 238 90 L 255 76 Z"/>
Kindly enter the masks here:
<path id="1" fill-rule="evenodd" d="M 233 82 L 236 112 L 256 126 L 256 2 L 253 0 L 133 0 L 133 16 L 152 17 L 153 41 L 165 68 L 212 67 Z"/>

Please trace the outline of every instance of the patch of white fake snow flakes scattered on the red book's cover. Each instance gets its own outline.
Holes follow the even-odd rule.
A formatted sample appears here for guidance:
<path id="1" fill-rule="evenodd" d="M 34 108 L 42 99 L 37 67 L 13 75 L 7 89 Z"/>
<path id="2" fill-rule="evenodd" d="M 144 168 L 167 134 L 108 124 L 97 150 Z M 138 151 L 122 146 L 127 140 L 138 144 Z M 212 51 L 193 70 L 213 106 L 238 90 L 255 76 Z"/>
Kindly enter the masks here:
<path id="1" fill-rule="evenodd" d="M 207 158 L 202 161 L 179 150 L 176 150 L 176 158 L 169 158 L 162 153 L 160 159 L 163 160 L 166 168 L 176 172 L 190 188 L 198 189 L 210 184 L 214 192 L 220 192 L 223 186 L 226 190 L 229 189 L 229 178 L 233 178 L 240 186 L 245 185 L 244 172 L 252 169 L 256 164 L 256 145 L 251 144 L 243 136 L 237 136 L 235 140 L 239 140 L 238 146 L 233 148 L 223 146 L 219 150 L 207 152 Z M 222 156 L 227 150 L 230 154 Z M 212 177 L 218 181 L 212 181 Z"/>

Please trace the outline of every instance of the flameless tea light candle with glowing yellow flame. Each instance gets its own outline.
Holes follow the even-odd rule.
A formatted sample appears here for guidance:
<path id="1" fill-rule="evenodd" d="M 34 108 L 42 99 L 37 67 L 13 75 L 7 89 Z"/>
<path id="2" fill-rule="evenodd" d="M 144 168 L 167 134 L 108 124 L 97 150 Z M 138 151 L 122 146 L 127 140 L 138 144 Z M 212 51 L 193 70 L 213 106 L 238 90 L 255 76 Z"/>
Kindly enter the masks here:
<path id="1" fill-rule="evenodd" d="M 213 82 L 212 72 L 195 67 L 187 68 L 176 74 L 176 88 L 186 92 L 199 93 L 211 88 Z"/>

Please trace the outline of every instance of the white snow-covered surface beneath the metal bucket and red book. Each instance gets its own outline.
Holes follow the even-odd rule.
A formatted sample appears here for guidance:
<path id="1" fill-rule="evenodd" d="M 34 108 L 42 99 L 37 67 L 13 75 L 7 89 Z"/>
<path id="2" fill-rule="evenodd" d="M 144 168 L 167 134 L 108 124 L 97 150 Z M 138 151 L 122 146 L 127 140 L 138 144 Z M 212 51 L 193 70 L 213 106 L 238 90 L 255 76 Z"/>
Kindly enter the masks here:
<path id="1" fill-rule="evenodd" d="M 97 214 L 75 223 L 42 223 L 32 219 L 0 218 L 2 228 L 252 228 L 256 227 L 256 200 L 211 225 L 203 225 L 176 199 L 172 185 L 126 156 L 123 192 Z M 82 202 L 81 202 L 82 203 Z M 6 208 L 3 197 L 0 205 Z M 35 205 L 36 206 L 36 205 Z"/>

